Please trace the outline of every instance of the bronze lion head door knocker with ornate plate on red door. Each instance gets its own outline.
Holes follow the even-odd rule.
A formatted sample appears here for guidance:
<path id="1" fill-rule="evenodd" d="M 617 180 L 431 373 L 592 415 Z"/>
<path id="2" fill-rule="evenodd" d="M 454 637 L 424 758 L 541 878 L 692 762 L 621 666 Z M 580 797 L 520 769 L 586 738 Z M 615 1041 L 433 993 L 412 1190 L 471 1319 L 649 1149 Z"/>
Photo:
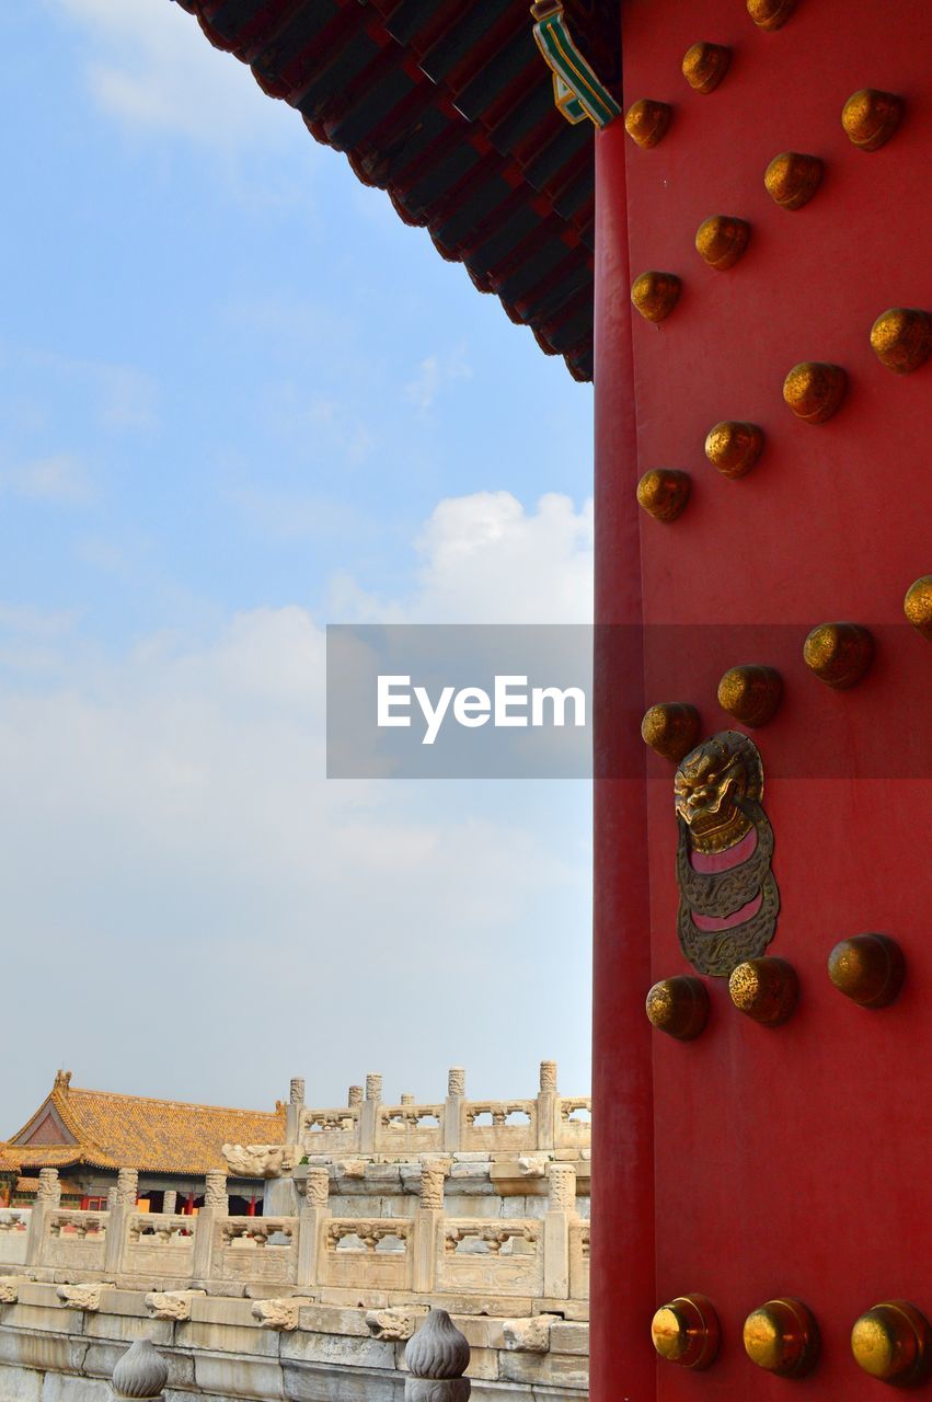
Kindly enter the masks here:
<path id="1" fill-rule="evenodd" d="M 677 932 L 699 973 L 727 979 L 774 938 L 779 892 L 762 795 L 761 756 L 739 730 L 713 735 L 677 770 Z"/>

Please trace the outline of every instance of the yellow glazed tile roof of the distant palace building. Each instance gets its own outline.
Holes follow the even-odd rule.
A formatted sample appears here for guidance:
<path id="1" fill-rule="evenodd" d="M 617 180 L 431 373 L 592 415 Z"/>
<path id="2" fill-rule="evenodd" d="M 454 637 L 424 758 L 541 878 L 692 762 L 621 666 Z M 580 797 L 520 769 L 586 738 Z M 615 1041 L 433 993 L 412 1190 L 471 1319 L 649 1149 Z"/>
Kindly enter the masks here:
<path id="1" fill-rule="evenodd" d="M 52 1106 L 74 1144 L 18 1144 Z M 282 1144 L 285 1106 L 237 1110 L 219 1105 L 156 1101 L 114 1091 L 85 1091 L 59 1074 L 55 1088 L 28 1124 L 0 1144 L 21 1168 L 137 1168 L 150 1173 L 203 1175 L 226 1168 L 221 1144 Z"/>

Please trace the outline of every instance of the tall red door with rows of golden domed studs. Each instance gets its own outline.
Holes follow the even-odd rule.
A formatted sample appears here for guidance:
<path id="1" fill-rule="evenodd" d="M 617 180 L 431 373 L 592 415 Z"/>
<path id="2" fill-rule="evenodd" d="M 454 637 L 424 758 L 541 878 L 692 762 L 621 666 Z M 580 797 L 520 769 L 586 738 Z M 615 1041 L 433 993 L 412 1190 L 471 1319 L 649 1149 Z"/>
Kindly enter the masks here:
<path id="1" fill-rule="evenodd" d="M 643 659 L 636 632 L 600 635 L 598 1402 L 753 1402 L 793 1389 L 882 1398 L 883 1382 L 852 1354 L 855 1321 L 889 1301 L 932 1319 L 932 641 L 904 618 L 907 589 L 932 575 L 932 359 L 894 373 L 870 342 L 887 308 L 932 308 L 931 18 L 926 0 L 797 0 L 769 29 L 743 0 L 621 6 L 625 105 L 649 98 L 673 111 L 655 146 L 621 122 L 597 137 L 597 615 L 646 624 Z M 695 56 L 699 79 L 719 79 L 709 91 L 683 74 L 697 42 L 729 50 Z M 898 126 L 873 150 L 841 121 L 863 88 L 903 100 Z M 873 98 L 849 125 L 863 142 L 896 111 Z M 774 170 L 778 203 L 764 175 L 782 153 L 816 161 Z M 750 226 L 732 266 L 697 251 L 711 216 Z M 746 233 L 706 230 L 712 255 Z M 656 321 L 629 301 L 646 271 L 678 279 L 646 285 L 646 308 L 669 311 Z M 928 322 L 907 331 L 893 349 L 918 358 Z M 800 372 L 786 388 L 793 408 L 783 387 L 800 363 L 844 376 Z M 706 457 L 722 422 L 760 429 L 746 475 Z M 747 446 L 733 430 L 720 465 Z M 636 482 L 653 468 L 690 477 L 673 520 L 638 506 Z M 803 660 L 810 629 L 838 621 L 875 644 L 847 690 Z M 863 635 L 851 639 L 858 653 Z M 739 665 L 782 679 L 778 709 L 757 728 L 716 695 Z M 744 845 L 733 829 L 727 850 L 709 854 L 687 834 L 680 879 L 677 764 L 636 733 L 655 702 L 694 707 L 698 740 L 753 737 L 762 764 L 760 802 L 746 792 L 736 816 Z M 726 765 L 754 787 L 753 751 L 729 743 L 706 767 L 705 799 L 702 775 L 681 778 L 684 802 L 713 806 Z M 734 852 L 757 852 L 758 866 L 729 941 L 733 914 L 702 914 L 718 887 L 694 873 L 715 878 Z M 905 959 L 903 991 L 883 1008 L 858 1005 L 828 977 L 832 948 L 863 934 L 883 934 Z M 799 997 L 781 1025 L 732 1000 L 727 974 L 747 956 L 790 966 L 782 976 Z M 765 966 L 760 977 L 778 973 Z M 709 1000 L 692 1040 L 645 1016 L 649 987 L 674 976 L 699 980 Z M 655 1311 L 690 1294 L 706 1297 L 720 1325 L 705 1370 L 652 1345 Z M 779 1300 L 789 1314 L 772 1307 L 748 1325 L 755 1363 L 746 1321 Z M 900 1339 L 900 1360 L 915 1342 L 905 1323 L 887 1314 L 876 1335 Z M 776 1354 L 795 1377 L 760 1366 Z"/>

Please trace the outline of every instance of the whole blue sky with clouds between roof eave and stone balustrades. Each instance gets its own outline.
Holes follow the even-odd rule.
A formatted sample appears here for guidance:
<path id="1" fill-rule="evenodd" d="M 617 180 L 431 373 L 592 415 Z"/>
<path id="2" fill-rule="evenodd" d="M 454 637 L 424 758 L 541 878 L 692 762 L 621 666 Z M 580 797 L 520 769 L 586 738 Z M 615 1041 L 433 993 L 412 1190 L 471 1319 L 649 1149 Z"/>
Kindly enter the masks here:
<path id="1" fill-rule="evenodd" d="M 587 787 L 328 787 L 322 627 L 586 621 L 590 388 L 170 0 L 0 29 L 0 1134 L 586 1088 Z"/>

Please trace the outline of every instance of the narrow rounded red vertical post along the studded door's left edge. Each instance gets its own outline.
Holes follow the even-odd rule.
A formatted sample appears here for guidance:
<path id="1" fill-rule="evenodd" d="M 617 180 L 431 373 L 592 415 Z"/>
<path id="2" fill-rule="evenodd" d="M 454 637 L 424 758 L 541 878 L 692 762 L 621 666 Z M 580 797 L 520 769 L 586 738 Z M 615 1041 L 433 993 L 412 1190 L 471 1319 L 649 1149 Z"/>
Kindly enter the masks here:
<path id="1" fill-rule="evenodd" d="M 593 1402 L 653 1402 L 650 904 L 625 129 L 596 137 Z"/>

